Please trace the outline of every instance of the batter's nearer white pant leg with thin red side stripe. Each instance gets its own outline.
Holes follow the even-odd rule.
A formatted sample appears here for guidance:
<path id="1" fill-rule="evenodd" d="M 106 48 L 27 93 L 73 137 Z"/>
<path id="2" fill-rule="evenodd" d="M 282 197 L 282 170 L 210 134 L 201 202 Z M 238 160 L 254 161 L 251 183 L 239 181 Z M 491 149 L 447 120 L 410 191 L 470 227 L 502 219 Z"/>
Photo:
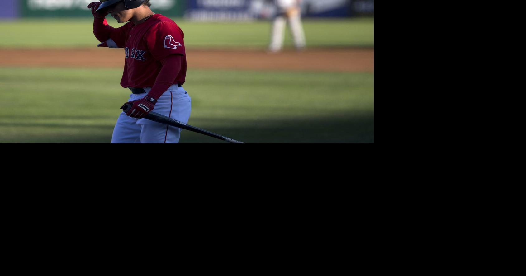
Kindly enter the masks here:
<path id="1" fill-rule="evenodd" d="M 154 112 L 174 118 L 178 121 L 188 122 L 191 111 L 191 98 L 183 87 L 171 86 L 163 95 L 157 99 Z M 148 89 L 145 89 L 149 91 Z M 171 91 L 170 91 L 171 90 Z M 179 142 L 181 129 L 148 119 L 139 119 L 140 142 L 142 143 L 177 143 Z"/>

